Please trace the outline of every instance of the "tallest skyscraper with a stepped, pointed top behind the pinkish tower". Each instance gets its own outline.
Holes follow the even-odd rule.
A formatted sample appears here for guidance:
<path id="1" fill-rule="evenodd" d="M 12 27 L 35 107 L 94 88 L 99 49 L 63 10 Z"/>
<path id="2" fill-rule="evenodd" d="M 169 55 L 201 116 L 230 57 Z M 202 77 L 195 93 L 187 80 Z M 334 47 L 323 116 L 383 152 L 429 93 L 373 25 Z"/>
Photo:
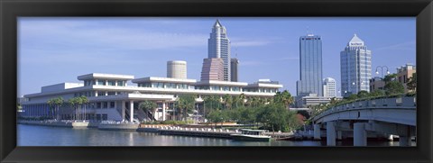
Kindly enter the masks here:
<path id="1" fill-rule="evenodd" d="M 224 61 L 224 80 L 231 81 L 230 68 L 230 40 L 227 37 L 226 27 L 219 21 L 214 24 L 210 38 L 207 40 L 208 59 L 218 58 Z"/>

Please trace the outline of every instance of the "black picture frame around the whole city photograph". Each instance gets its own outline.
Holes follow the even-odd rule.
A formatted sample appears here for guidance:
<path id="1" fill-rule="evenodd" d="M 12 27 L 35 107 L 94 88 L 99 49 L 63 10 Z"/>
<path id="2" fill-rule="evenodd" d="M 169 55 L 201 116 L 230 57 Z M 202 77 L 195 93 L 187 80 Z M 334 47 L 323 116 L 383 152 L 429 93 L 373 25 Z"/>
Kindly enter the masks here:
<path id="1" fill-rule="evenodd" d="M 19 16 L 416 16 L 416 147 L 16 147 Z M 431 162 L 431 0 L 1 0 L 2 162 Z"/>

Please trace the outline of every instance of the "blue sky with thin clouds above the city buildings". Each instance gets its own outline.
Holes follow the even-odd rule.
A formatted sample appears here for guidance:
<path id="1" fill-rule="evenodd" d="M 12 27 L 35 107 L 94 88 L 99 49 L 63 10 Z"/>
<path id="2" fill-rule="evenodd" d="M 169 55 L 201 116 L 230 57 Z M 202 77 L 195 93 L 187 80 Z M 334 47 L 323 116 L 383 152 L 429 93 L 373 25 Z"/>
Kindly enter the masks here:
<path id="1" fill-rule="evenodd" d="M 217 18 L 37 18 L 18 20 L 18 95 L 41 86 L 78 82 L 88 73 L 166 77 L 166 62 L 188 62 L 188 77 L 199 79 L 207 39 Z M 280 81 L 296 95 L 299 36 L 322 37 L 323 77 L 340 87 L 340 51 L 354 33 L 372 50 L 373 72 L 415 64 L 415 18 L 228 18 L 232 57 L 239 79 Z M 377 76 L 373 73 L 373 77 Z M 380 75 L 379 75 L 380 76 Z"/>

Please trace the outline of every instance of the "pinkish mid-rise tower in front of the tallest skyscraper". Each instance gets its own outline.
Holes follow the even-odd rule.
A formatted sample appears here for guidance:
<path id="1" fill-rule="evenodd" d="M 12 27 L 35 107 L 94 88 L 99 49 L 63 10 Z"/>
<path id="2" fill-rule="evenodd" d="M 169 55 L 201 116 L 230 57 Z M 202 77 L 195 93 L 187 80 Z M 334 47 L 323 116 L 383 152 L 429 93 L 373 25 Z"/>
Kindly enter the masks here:
<path id="1" fill-rule="evenodd" d="M 201 81 L 224 80 L 224 62 L 223 59 L 203 59 L 203 68 L 201 69 Z"/>

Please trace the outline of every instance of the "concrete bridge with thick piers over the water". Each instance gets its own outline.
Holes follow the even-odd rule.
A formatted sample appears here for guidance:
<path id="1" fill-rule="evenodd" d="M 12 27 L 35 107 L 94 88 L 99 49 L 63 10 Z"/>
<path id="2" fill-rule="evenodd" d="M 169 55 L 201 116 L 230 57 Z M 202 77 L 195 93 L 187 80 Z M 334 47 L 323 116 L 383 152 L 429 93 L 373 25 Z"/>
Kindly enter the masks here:
<path id="1" fill-rule="evenodd" d="M 398 135 L 401 146 L 410 146 L 416 136 L 416 97 L 388 97 L 340 104 L 312 118 L 314 139 L 320 140 L 320 129 L 326 129 L 327 145 L 353 133 L 354 146 L 366 146 L 367 134 L 392 137 Z"/>

